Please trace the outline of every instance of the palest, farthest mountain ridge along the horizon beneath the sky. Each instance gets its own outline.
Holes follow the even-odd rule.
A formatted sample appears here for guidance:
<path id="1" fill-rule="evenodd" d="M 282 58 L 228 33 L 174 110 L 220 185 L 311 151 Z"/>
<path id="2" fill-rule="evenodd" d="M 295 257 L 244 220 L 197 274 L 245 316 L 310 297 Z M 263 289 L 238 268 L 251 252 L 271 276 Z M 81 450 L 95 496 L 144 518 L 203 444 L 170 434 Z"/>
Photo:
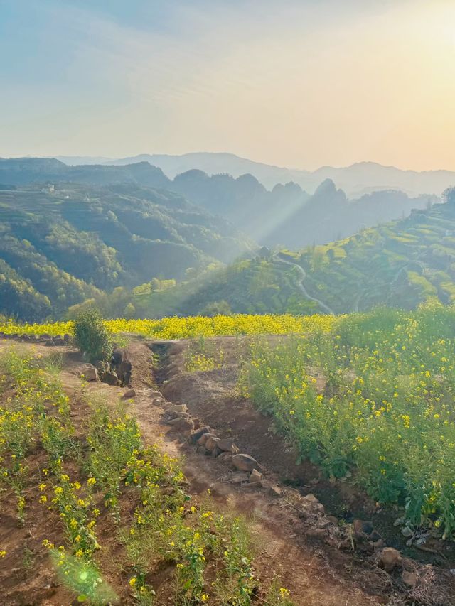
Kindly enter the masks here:
<path id="1" fill-rule="evenodd" d="M 98 163 L 99 158 L 80 158 L 57 156 L 68 164 Z M 382 166 L 375 162 L 358 162 L 343 168 L 322 166 L 316 171 L 305 171 L 293 168 L 273 166 L 240 158 L 233 153 L 195 152 L 180 156 L 167 154 L 147 154 L 102 161 L 108 165 L 124 165 L 137 162 L 149 162 L 161 168 L 173 179 L 178 173 L 184 173 L 193 168 L 204 171 L 208 175 L 228 173 L 239 177 L 250 173 L 267 189 L 272 189 L 277 183 L 294 181 L 309 193 L 314 193 L 318 185 L 325 179 L 331 179 L 337 188 L 341 188 L 352 198 L 373 190 L 399 189 L 409 195 L 441 193 L 455 185 L 455 171 L 407 171 L 395 166 Z"/>

